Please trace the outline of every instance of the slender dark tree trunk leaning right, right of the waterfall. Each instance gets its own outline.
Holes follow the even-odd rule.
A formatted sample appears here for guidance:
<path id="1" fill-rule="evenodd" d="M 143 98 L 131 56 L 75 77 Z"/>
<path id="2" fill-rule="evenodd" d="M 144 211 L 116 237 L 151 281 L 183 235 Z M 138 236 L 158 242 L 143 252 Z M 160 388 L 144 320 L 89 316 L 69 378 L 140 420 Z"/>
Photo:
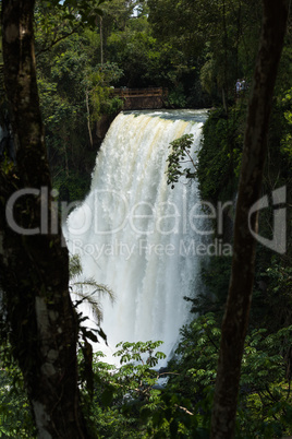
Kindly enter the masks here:
<path id="1" fill-rule="evenodd" d="M 248 212 L 260 198 L 272 92 L 287 27 L 287 0 L 263 0 L 263 28 L 245 131 L 211 438 L 234 436 L 241 360 L 254 281 L 255 240 L 248 229 Z M 252 228 L 257 229 L 257 215 L 252 216 Z"/>

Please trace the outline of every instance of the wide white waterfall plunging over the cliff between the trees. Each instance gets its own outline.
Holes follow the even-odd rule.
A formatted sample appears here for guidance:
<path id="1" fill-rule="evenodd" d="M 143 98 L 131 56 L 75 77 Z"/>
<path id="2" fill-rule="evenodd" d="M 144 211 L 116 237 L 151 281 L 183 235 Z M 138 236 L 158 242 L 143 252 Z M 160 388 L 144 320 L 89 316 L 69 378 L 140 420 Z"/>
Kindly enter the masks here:
<path id="1" fill-rule="evenodd" d="M 186 180 L 171 189 L 166 171 L 169 144 L 183 134 L 194 135 L 196 159 L 206 118 L 206 110 L 121 112 L 97 155 L 89 194 L 69 215 L 64 235 L 81 257 L 81 281 L 94 278 L 114 294 L 113 304 L 98 297 L 108 346 L 94 348 L 108 363 L 117 363 L 119 342 L 161 340 L 169 357 L 190 319 L 184 296 L 194 297 L 198 285 L 198 190 Z M 83 312 L 90 316 L 89 307 Z"/>

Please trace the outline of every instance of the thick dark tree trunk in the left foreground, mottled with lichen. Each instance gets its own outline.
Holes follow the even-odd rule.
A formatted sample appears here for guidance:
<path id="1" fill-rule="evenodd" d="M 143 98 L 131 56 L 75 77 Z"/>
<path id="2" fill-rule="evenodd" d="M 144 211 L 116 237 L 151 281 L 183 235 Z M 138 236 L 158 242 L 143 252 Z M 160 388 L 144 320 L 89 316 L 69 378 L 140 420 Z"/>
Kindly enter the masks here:
<path id="1" fill-rule="evenodd" d="M 24 375 L 38 437 L 85 438 L 68 250 L 61 246 L 61 233 L 56 234 L 58 221 L 50 206 L 34 58 L 34 3 L 2 1 L 4 83 L 16 165 L 0 164 L 0 282 L 9 340 Z M 27 188 L 31 194 L 17 192 Z M 15 224 L 26 232 L 15 232 Z"/>

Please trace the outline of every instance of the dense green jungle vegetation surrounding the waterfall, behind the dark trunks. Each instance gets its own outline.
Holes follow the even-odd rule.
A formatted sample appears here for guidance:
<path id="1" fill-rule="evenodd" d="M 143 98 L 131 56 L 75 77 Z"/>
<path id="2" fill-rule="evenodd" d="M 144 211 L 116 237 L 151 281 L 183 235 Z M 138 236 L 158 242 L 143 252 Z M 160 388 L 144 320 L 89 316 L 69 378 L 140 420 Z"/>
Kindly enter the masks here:
<path id="1" fill-rule="evenodd" d="M 168 108 L 209 108 L 195 176 L 203 200 L 215 205 L 218 201 L 235 203 L 260 2 L 106 0 L 100 9 L 102 15 L 92 15 L 84 24 L 74 5 L 64 14 L 49 1 L 36 3 L 37 81 L 59 200 L 82 200 L 89 190 L 106 128 L 122 108 L 111 88 L 162 86 L 168 88 Z M 290 21 L 263 186 L 263 195 L 287 187 L 287 251 L 257 247 L 240 384 L 239 438 L 292 436 L 291 32 Z M 239 95 L 238 79 L 247 84 Z M 230 206 L 224 216 L 223 239 L 230 242 L 233 213 Z M 271 237 L 272 213 L 269 207 L 260 214 L 261 236 Z M 72 277 L 75 273 L 71 266 Z M 186 298 L 192 301 L 194 320 L 182 328 L 177 355 L 166 370 L 155 368 L 163 357 L 163 345 L 157 341 L 118 346 L 119 369 L 108 365 L 102 353 L 92 357 L 88 342 L 96 341 L 96 335 L 80 316 L 84 337 L 78 384 L 92 437 L 209 437 L 229 276 L 229 258 L 212 257 L 202 266 L 205 288 L 196 298 Z M 2 349 L 1 363 L 0 437 L 36 437 L 23 378 L 11 353 Z M 163 387 L 157 384 L 159 376 L 168 378 Z"/>

